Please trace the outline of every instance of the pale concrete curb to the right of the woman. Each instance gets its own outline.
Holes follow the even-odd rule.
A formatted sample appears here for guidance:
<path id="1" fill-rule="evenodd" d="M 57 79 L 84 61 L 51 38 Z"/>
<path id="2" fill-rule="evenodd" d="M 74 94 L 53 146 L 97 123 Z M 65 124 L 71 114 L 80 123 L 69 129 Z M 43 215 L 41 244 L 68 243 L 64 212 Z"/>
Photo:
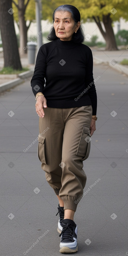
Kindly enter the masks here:
<path id="1" fill-rule="evenodd" d="M 103 64 L 104 63 L 104 64 L 110 66 L 111 68 L 114 68 L 115 70 L 119 71 L 120 73 L 128 75 L 128 68 L 126 68 L 125 66 L 120 65 L 118 63 L 113 65 L 111 62 L 103 61 L 102 59 L 99 59 L 97 57 L 93 57 L 93 62 L 95 64 Z"/>

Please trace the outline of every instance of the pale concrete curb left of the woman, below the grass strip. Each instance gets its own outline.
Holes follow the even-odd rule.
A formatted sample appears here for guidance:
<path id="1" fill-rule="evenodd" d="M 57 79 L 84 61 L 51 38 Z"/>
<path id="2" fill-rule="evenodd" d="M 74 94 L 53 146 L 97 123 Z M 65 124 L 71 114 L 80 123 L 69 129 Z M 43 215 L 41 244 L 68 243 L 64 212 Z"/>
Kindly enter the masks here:
<path id="1" fill-rule="evenodd" d="M 33 75 L 32 70 L 26 71 L 26 72 L 23 72 L 22 74 L 19 74 L 18 78 L 14 79 L 12 81 L 0 84 L 0 93 L 3 91 L 6 91 L 7 89 L 10 89 L 16 85 L 22 84 L 26 78 L 28 78 L 32 75 Z"/>

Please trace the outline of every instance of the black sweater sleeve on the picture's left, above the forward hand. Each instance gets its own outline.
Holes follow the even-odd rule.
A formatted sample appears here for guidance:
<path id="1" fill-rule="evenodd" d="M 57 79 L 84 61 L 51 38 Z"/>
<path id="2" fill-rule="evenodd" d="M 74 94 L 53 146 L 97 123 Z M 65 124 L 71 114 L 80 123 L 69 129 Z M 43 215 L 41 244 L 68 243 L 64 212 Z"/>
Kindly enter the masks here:
<path id="1" fill-rule="evenodd" d="M 33 73 L 33 77 L 31 79 L 31 87 L 35 96 L 38 92 L 43 93 L 44 84 L 45 84 L 45 71 L 46 71 L 45 50 L 44 50 L 44 47 L 41 46 L 37 54 L 35 70 Z"/>

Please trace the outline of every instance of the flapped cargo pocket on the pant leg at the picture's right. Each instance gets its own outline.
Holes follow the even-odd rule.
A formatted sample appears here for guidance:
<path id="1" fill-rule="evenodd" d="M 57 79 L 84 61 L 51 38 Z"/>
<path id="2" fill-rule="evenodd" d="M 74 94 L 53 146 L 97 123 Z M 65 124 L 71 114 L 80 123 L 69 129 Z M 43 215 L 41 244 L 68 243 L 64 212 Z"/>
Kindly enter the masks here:
<path id="1" fill-rule="evenodd" d="M 83 126 L 80 142 L 79 142 L 77 152 L 76 152 L 76 156 L 83 157 L 81 159 L 82 161 L 87 159 L 89 156 L 90 146 L 91 146 L 91 138 L 90 137 L 91 137 L 90 129 L 86 126 Z"/>

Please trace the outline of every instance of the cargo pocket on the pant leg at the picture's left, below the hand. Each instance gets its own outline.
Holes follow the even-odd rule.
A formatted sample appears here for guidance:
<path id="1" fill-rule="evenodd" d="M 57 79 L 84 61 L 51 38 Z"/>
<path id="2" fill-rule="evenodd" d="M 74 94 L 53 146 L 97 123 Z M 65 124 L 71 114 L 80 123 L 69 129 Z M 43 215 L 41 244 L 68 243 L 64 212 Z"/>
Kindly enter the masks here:
<path id="1" fill-rule="evenodd" d="M 40 162 L 46 164 L 45 160 L 45 137 L 42 134 L 38 136 L 38 157 Z"/>

